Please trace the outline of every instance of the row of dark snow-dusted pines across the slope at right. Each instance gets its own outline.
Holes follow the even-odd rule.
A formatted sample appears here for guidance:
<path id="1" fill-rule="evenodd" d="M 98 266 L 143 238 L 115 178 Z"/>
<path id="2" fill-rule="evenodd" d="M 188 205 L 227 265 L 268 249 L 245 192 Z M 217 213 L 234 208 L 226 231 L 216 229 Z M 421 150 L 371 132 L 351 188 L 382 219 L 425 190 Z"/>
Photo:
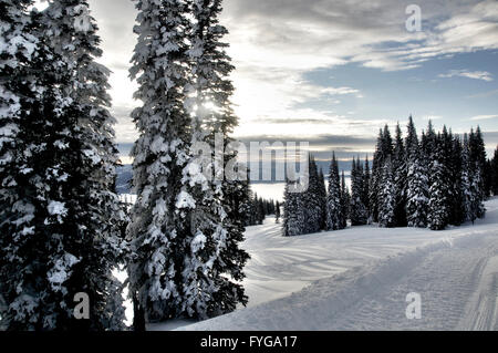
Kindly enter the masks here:
<path id="1" fill-rule="evenodd" d="M 339 173 L 333 153 L 329 185 L 312 156 L 309 187 L 292 193 L 287 180 L 283 203 L 283 236 L 377 224 L 380 227 L 418 227 L 444 230 L 449 225 L 484 218 L 484 201 L 498 195 L 498 147 L 487 159 L 480 127 L 463 137 L 432 122 L 419 138 L 412 116 L 406 138 L 400 124 L 394 138 L 381 129 L 372 165 L 354 158 L 351 188 Z"/>

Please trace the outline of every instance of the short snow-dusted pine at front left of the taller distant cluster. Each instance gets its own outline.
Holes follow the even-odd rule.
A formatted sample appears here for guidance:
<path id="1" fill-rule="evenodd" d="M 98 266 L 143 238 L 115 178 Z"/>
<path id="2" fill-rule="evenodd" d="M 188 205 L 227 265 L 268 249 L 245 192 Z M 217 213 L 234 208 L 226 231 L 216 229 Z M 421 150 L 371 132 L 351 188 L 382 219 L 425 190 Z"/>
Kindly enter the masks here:
<path id="1" fill-rule="evenodd" d="M 394 184 L 393 164 L 391 157 L 382 168 L 381 191 L 378 193 L 378 226 L 383 228 L 396 227 L 396 189 Z"/>

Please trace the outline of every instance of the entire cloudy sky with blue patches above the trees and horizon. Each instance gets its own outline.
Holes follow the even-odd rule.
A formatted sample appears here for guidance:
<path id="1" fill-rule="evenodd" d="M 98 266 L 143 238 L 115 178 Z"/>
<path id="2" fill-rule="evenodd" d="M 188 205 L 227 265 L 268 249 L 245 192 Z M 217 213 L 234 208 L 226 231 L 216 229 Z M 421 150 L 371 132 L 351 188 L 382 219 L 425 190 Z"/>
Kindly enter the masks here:
<path id="1" fill-rule="evenodd" d="M 480 125 L 498 145 L 498 1 L 226 0 L 221 24 L 237 70 L 242 141 L 311 144 L 318 159 L 372 154 L 378 129 L 414 116 L 464 133 Z M 137 134 L 128 79 L 133 1 L 90 0 L 104 56 L 123 160 Z"/>

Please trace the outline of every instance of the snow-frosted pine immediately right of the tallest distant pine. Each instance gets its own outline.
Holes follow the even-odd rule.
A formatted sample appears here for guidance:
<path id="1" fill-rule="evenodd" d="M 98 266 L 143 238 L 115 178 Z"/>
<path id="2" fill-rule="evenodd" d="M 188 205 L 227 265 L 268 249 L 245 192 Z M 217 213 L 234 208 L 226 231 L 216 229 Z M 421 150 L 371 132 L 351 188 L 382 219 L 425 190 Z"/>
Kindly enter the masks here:
<path id="1" fill-rule="evenodd" d="M 444 230 L 449 219 L 448 170 L 445 164 L 445 148 L 440 134 L 435 142 L 430 154 L 432 159 L 429 159 L 430 187 L 427 224 L 432 230 Z"/>

